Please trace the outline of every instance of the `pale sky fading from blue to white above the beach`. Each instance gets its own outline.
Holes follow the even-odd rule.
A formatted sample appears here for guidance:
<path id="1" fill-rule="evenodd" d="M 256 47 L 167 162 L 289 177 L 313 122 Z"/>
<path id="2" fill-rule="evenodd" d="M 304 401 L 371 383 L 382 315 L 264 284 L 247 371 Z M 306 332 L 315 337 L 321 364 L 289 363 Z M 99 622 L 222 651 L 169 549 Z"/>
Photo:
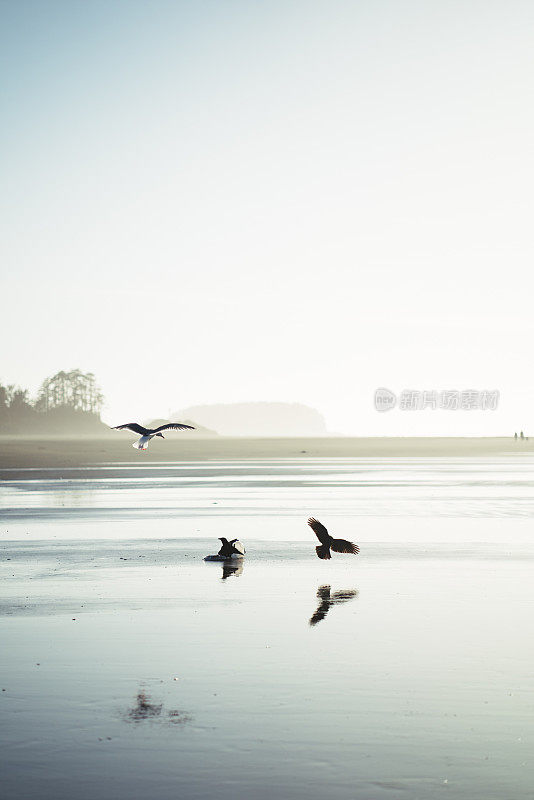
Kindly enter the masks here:
<path id="1" fill-rule="evenodd" d="M 92 371 L 113 425 L 266 400 L 528 432 L 530 3 L 0 14 L 2 383 Z M 379 386 L 500 403 L 378 414 Z"/>

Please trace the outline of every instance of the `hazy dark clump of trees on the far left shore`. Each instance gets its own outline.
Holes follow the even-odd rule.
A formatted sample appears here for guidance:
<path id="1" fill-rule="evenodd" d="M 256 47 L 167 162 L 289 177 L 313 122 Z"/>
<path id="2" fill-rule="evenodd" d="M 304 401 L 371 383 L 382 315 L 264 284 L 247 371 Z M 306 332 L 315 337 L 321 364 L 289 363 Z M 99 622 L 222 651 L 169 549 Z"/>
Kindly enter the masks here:
<path id="1" fill-rule="evenodd" d="M 2 433 L 97 431 L 104 425 L 100 411 L 104 395 L 92 372 L 79 369 L 46 378 L 35 399 L 20 386 L 0 384 Z"/>

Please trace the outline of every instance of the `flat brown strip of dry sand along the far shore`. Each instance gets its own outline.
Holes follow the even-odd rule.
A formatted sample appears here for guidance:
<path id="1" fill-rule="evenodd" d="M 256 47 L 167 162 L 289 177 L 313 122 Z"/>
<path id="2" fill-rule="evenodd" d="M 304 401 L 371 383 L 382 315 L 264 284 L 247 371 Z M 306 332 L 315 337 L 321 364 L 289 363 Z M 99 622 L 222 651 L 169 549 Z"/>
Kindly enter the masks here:
<path id="1" fill-rule="evenodd" d="M 28 468 L 79 467 L 98 464 L 140 466 L 150 462 L 209 461 L 254 458 L 395 458 L 483 457 L 534 453 L 534 439 L 513 437 L 318 437 L 197 438 L 170 434 L 146 452 L 134 450 L 134 437 L 0 436 L 0 479 Z M 19 476 L 17 476 L 19 477 Z"/>

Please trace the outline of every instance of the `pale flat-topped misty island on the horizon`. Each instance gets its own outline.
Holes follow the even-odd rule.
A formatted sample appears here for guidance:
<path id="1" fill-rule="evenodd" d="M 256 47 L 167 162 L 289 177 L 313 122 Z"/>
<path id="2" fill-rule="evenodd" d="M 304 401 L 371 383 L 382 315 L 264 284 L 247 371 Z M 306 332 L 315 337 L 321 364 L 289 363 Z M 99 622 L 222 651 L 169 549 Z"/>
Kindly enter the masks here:
<path id="1" fill-rule="evenodd" d="M 322 414 L 302 403 L 214 403 L 184 408 L 171 419 L 193 419 L 222 436 L 327 435 Z"/>

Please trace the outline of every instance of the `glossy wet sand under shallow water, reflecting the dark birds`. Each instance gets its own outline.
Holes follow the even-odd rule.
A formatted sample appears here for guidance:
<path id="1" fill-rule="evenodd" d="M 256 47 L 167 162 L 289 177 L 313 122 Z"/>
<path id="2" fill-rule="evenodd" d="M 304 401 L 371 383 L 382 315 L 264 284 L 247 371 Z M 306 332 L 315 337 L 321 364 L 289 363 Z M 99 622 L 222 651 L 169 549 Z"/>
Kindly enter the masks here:
<path id="1" fill-rule="evenodd" d="M 3 796 L 532 797 L 534 460 L 57 472 L 0 484 Z"/>

